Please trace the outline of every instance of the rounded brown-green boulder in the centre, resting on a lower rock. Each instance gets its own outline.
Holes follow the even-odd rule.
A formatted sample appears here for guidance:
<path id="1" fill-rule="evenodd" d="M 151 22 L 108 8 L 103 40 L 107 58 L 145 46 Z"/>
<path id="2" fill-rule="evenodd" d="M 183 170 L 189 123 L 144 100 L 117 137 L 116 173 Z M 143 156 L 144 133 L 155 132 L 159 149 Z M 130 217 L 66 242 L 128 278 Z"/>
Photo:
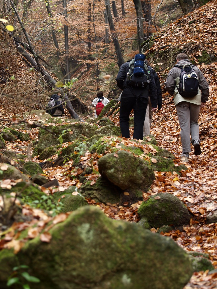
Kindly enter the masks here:
<path id="1" fill-rule="evenodd" d="M 99 172 L 113 184 L 127 188 L 148 188 L 155 179 L 150 163 L 127 151 L 109 153 L 98 160 Z"/>

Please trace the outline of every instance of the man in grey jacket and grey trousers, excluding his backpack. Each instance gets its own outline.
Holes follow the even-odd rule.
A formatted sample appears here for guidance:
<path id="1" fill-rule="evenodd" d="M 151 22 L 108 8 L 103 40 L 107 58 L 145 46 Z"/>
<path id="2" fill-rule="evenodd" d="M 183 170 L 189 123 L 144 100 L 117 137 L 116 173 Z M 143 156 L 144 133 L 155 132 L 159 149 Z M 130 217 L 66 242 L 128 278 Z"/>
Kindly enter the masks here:
<path id="1" fill-rule="evenodd" d="M 176 66 L 171 68 L 169 71 L 165 82 L 165 88 L 170 93 L 170 95 L 173 95 L 174 103 L 176 106 L 176 112 L 181 128 L 181 157 L 189 158 L 189 153 L 191 152 L 191 143 L 194 146 L 195 155 L 200 155 L 202 153 L 200 147 L 198 118 L 200 108 L 205 107 L 208 100 L 209 85 L 200 69 L 197 66 L 193 66 L 192 69 L 196 73 L 198 79 L 198 94 L 194 97 L 182 97 L 177 88 L 177 86 L 179 86 L 181 68 L 185 64 L 193 64 L 188 60 L 187 55 L 184 53 L 178 54 L 176 56 L 176 61 Z"/>

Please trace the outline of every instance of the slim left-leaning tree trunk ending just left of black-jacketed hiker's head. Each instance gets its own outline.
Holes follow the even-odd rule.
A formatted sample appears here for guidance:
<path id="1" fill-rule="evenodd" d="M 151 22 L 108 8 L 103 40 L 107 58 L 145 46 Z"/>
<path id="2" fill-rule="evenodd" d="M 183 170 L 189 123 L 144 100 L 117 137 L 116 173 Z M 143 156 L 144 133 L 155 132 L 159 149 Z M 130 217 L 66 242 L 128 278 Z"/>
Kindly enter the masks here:
<path id="1" fill-rule="evenodd" d="M 122 53 L 121 53 L 121 49 L 120 49 L 119 41 L 117 39 L 117 35 L 115 33 L 115 26 L 114 26 L 112 15 L 111 15 L 111 8 L 110 8 L 109 0 L 105 0 L 105 4 L 106 4 L 106 13 L 107 13 L 107 17 L 108 17 L 108 24 L 110 27 L 110 31 L 112 34 L 112 40 L 113 40 L 116 55 L 117 55 L 117 64 L 119 67 L 121 67 L 121 65 L 124 63 L 124 58 L 123 58 Z"/>

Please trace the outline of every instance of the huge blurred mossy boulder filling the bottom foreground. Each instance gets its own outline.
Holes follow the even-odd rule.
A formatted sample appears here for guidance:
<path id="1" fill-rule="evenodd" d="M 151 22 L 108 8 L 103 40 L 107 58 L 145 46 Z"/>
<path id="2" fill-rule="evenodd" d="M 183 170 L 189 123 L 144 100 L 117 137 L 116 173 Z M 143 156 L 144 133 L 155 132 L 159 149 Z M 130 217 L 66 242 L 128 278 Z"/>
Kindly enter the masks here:
<path id="1" fill-rule="evenodd" d="M 16 257 L 8 253 L 8 260 L 6 249 L 1 251 L 3 288 L 17 263 L 29 266 L 27 273 L 40 279 L 34 289 L 182 289 L 192 276 L 189 256 L 171 238 L 107 218 L 94 206 L 48 226 L 49 242 L 38 236 Z"/>

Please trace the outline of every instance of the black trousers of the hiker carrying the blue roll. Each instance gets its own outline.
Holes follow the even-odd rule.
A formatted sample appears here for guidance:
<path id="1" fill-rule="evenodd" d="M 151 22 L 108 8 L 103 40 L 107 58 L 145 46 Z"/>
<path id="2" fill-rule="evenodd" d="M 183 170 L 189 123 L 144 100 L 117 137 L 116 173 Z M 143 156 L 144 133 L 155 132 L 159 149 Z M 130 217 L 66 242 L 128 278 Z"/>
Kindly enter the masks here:
<path id="1" fill-rule="evenodd" d="M 119 113 L 119 121 L 122 136 L 130 138 L 130 112 L 133 110 L 134 131 L 133 138 L 137 140 L 143 139 L 143 125 L 146 117 L 146 108 L 148 99 L 145 97 L 122 97 Z"/>

